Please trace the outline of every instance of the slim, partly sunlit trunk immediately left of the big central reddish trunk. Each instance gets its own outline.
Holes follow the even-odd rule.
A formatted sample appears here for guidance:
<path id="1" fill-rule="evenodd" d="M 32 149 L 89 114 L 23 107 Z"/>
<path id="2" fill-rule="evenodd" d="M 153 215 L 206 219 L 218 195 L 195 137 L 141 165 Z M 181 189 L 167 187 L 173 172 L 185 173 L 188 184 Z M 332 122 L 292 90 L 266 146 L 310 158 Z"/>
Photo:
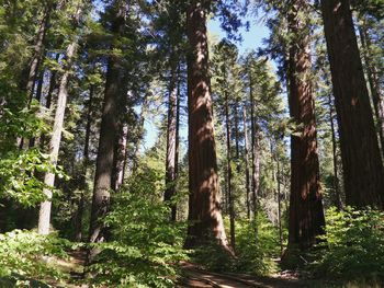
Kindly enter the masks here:
<path id="1" fill-rule="evenodd" d="M 172 54 L 174 54 L 174 47 Z M 174 56 L 172 57 L 174 58 Z M 171 79 L 168 100 L 168 125 L 167 125 L 167 158 L 166 158 L 166 192 L 165 201 L 171 201 L 176 194 L 176 149 L 177 149 L 177 108 L 178 108 L 178 64 L 171 59 Z M 176 220 L 176 204 L 170 205 L 171 220 Z"/>

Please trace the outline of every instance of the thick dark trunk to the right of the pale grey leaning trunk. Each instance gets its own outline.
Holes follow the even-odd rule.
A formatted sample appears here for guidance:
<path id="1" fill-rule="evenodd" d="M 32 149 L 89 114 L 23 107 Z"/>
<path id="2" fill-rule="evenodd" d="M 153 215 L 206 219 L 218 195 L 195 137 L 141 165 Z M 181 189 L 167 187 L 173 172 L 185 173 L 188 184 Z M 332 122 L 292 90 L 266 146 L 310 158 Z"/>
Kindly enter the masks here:
<path id="1" fill-rule="evenodd" d="M 118 2 L 116 16 L 112 32 L 118 37 L 123 35 L 126 24 L 126 3 Z M 113 47 L 111 47 L 113 48 Z M 106 82 L 104 92 L 103 112 L 101 116 L 100 139 L 94 173 L 94 187 L 91 207 L 91 219 L 89 229 L 89 242 L 103 242 L 106 237 L 103 218 L 110 208 L 110 189 L 114 188 L 112 176 L 114 172 L 115 142 L 120 129 L 120 105 L 122 104 L 124 91 L 124 68 L 120 57 L 111 55 L 108 64 Z M 87 262 L 91 262 L 98 253 L 97 250 L 89 251 Z"/>

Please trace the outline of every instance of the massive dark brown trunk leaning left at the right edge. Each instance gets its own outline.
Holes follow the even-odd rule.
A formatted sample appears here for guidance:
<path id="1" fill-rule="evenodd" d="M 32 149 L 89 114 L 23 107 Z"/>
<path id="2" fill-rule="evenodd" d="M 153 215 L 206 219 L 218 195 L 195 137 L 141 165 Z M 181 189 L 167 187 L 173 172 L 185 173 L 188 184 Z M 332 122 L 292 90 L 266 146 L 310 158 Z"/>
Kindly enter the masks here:
<path id="1" fill-rule="evenodd" d="M 346 204 L 383 208 L 383 162 L 350 1 L 323 0 L 321 11 L 340 131 Z"/>

